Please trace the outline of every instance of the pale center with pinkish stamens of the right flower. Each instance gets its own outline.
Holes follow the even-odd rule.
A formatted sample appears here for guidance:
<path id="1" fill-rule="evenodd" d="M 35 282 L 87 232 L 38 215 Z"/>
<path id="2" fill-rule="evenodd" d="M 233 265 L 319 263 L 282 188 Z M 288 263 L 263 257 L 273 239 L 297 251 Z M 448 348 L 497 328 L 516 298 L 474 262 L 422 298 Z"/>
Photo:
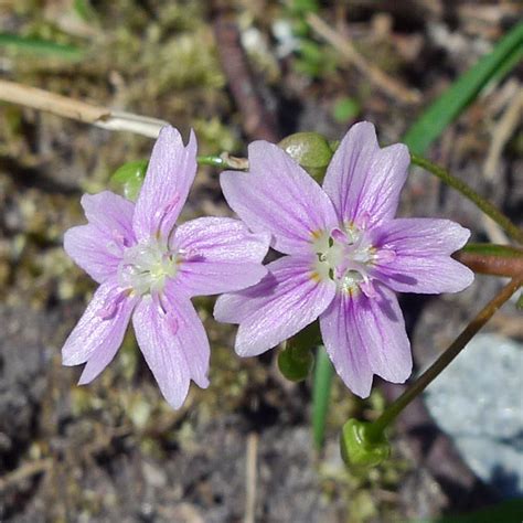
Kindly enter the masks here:
<path id="1" fill-rule="evenodd" d="M 348 293 L 362 290 L 374 297 L 372 269 L 380 262 L 394 259 L 395 253 L 374 247 L 363 228 L 346 225 L 317 235 L 313 243 L 317 260 L 314 274 L 322 280 L 330 279 L 339 290 Z"/>

